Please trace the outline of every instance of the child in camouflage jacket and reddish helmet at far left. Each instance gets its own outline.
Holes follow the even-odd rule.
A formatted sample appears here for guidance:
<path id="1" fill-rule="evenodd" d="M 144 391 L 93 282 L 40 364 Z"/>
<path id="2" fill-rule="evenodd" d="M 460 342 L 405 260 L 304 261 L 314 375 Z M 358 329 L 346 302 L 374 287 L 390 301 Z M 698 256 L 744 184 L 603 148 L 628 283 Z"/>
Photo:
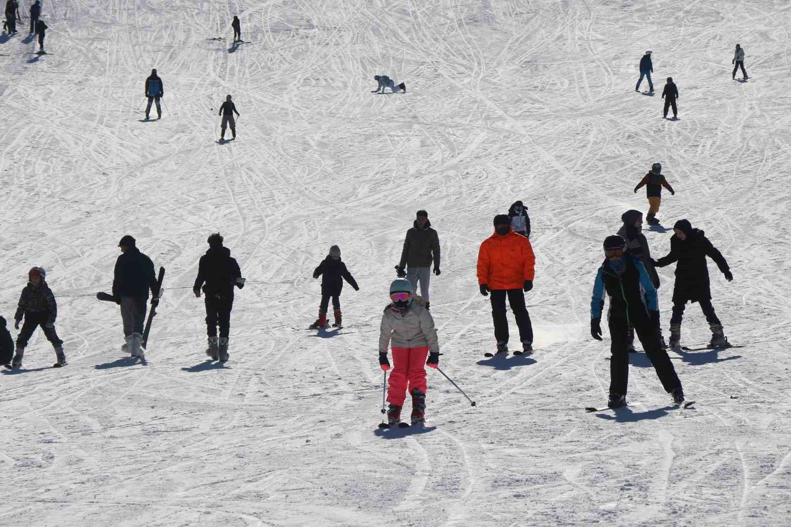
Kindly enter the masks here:
<path id="1" fill-rule="evenodd" d="M 52 290 L 47 285 L 46 275 L 44 267 L 32 267 L 28 271 L 28 285 L 22 290 L 17 314 L 13 317 L 15 320 L 13 327 L 16 329 L 19 329 L 19 323 L 25 317 L 25 324 L 22 325 L 22 331 L 17 336 L 17 354 L 13 356 L 13 362 L 11 363 L 13 368 L 19 368 L 22 365 L 22 358 L 25 356 L 25 347 L 28 345 L 28 340 L 30 340 L 33 332 L 39 326 L 44 331 L 44 336 L 55 348 L 55 357 L 58 361 L 55 362 L 55 366 L 66 366 L 63 341 L 58 338 L 58 334 L 55 332 L 58 305 L 55 302 L 55 295 L 52 294 Z"/>

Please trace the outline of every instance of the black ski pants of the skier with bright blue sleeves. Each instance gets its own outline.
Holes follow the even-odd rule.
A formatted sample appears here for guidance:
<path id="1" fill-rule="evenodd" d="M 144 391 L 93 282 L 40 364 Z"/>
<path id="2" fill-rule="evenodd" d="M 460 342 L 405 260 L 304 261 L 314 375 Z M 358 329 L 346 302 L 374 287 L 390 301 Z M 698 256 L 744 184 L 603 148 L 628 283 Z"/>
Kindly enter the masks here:
<path id="1" fill-rule="evenodd" d="M 626 395 L 626 386 L 629 384 L 629 347 L 626 344 L 626 333 L 629 322 L 623 313 L 611 313 L 607 323 L 610 326 L 610 392 Z M 661 347 L 659 329 L 651 324 L 650 320 L 634 325 L 634 332 L 643 345 L 645 354 L 657 371 L 665 392 L 672 392 L 681 388 L 681 381 L 676 375 L 676 369 L 670 362 L 668 352 Z"/>

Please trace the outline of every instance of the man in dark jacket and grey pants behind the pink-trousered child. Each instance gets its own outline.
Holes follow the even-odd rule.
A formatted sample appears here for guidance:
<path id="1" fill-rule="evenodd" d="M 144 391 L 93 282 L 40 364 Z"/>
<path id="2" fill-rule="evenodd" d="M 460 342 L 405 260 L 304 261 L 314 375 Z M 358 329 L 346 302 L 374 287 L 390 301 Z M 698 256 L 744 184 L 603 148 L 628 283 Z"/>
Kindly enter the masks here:
<path id="1" fill-rule="evenodd" d="M 412 284 L 412 290 L 418 290 L 420 282 L 420 296 L 426 302 L 426 309 L 430 307 L 429 282 L 431 280 L 431 262 L 434 263 L 434 275 L 439 276 L 440 271 L 440 238 L 437 231 L 431 228 L 429 213 L 418 210 L 412 228 L 407 230 L 403 241 L 401 260 L 395 266 L 395 274 L 399 278 L 404 276 Z M 404 272 L 404 267 L 407 271 Z"/>

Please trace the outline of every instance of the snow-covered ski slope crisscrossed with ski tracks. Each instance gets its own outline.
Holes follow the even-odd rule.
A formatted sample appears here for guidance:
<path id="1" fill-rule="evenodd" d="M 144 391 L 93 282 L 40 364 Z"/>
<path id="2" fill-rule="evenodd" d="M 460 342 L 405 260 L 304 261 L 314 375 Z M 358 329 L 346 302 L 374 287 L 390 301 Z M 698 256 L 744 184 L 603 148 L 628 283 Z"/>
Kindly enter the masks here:
<path id="1" fill-rule="evenodd" d="M 0 38 L 0 314 L 16 338 L 45 267 L 70 363 L 51 369 L 39 331 L 0 372 L 0 525 L 789 525 L 789 2 L 42 5 L 49 55 L 27 20 Z M 230 44 L 235 14 L 249 44 Z M 634 92 L 648 49 L 653 97 Z M 143 122 L 151 68 L 165 115 Z M 374 74 L 407 93 L 370 93 Z M 661 119 L 668 76 L 678 121 Z M 238 138 L 218 144 L 229 93 Z M 676 195 L 645 226 L 653 255 L 677 219 L 705 229 L 735 276 L 710 264 L 713 305 L 746 347 L 671 353 L 687 410 L 632 354 L 630 407 L 588 414 L 609 384 L 606 324 L 589 335 L 601 243 L 647 211 L 632 189 L 657 161 Z M 475 262 L 517 199 L 536 352 L 485 360 Z M 425 429 L 382 433 L 380 317 L 421 208 L 441 241 L 440 366 L 477 407 L 430 370 Z M 248 279 L 225 366 L 205 362 L 191 291 L 216 231 Z M 146 364 L 94 298 L 124 234 L 167 269 Z M 333 244 L 361 289 L 343 291 L 345 328 L 306 331 Z M 683 344 L 709 338 L 688 305 Z"/>

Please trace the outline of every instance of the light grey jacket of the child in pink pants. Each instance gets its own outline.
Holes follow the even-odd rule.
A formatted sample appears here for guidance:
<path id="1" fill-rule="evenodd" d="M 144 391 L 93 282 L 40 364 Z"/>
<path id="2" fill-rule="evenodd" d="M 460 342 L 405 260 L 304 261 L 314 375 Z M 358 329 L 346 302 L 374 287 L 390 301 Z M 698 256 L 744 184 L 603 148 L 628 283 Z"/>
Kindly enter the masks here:
<path id="1" fill-rule="evenodd" d="M 403 315 L 394 313 L 389 304 L 384 308 L 382 325 L 379 332 L 379 353 L 388 352 L 392 347 L 428 346 L 430 352 L 439 352 L 440 343 L 434 319 L 420 297 L 414 297 L 412 307 Z"/>

